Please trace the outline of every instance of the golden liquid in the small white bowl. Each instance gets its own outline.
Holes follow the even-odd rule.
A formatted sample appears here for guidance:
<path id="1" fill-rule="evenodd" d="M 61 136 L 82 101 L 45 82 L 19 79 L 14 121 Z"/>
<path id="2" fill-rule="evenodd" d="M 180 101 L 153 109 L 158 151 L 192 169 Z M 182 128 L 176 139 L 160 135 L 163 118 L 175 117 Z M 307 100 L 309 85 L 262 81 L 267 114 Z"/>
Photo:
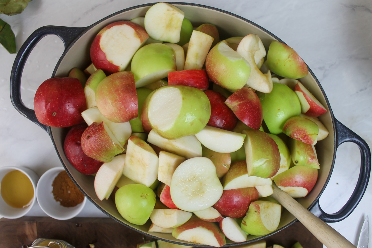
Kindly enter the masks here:
<path id="1" fill-rule="evenodd" d="M 10 171 L 3 177 L 0 191 L 4 202 L 16 208 L 31 204 L 34 194 L 30 179 L 18 170 Z"/>

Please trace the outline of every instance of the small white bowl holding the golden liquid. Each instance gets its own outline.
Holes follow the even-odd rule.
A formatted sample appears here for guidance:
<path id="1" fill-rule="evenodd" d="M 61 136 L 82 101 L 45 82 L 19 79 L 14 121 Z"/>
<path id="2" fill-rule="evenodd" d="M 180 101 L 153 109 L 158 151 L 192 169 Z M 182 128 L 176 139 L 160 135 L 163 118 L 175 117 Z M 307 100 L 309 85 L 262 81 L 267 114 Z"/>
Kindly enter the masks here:
<path id="1" fill-rule="evenodd" d="M 36 202 L 36 184 L 38 183 L 39 176 L 36 175 L 35 172 L 32 170 L 25 168 L 25 167 L 14 167 L 14 166 L 6 166 L 0 168 L 0 182 L 3 180 L 3 177 L 9 173 L 10 171 L 18 170 L 25 174 L 32 183 L 33 187 L 33 198 L 31 203 L 27 207 L 23 208 L 16 208 L 9 206 L 6 202 L 4 202 L 3 197 L 0 196 L 0 216 L 3 216 L 7 219 L 17 219 L 24 215 L 26 215 L 32 208 L 33 204 Z"/>

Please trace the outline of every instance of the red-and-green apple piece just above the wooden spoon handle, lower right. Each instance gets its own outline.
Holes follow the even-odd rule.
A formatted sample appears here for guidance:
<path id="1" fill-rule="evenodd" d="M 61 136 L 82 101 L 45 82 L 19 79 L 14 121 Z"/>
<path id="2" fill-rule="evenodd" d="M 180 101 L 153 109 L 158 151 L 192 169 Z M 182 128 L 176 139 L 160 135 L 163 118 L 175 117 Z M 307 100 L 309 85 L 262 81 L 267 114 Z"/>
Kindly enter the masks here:
<path id="1" fill-rule="evenodd" d="M 273 178 L 277 186 L 303 187 L 308 192 L 312 190 L 317 180 L 318 169 L 305 165 L 295 165 Z"/>

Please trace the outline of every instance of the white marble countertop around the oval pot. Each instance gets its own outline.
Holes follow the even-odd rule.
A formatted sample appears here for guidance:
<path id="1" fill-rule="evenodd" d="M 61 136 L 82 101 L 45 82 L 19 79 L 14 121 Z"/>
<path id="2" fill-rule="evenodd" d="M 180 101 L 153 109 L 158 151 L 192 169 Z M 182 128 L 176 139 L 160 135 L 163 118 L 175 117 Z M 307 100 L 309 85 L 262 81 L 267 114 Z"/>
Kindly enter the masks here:
<path id="1" fill-rule="evenodd" d="M 36 29 L 45 25 L 84 27 L 143 0 L 34 0 L 19 15 L 0 18 L 10 24 L 17 49 Z M 327 94 L 334 116 L 372 146 L 372 1 L 371 0 L 194 0 L 251 20 L 295 49 L 312 69 Z M 39 84 L 51 77 L 63 52 L 57 36 L 47 36 L 33 49 L 22 77 L 22 99 L 33 108 Z M 62 166 L 48 134 L 20 115 L 9 97 L 10 71 L 15 54 L 0 47 L 0 166 L 25 166 L 39 176 Z M 359 174 L 360 153 L 355 144 L 337 149 L 335 169 L 320 198 L 325 212 L 337 212 L 349 199 Z M 372 188 L 346 219 L 330 223 L 357 244 L 366 215 L 372 217 Z M 31 216 L 45 216 L 35 204 Z M 81 217 L 105 217 L 87 202 Z M 370 240 L 372 240 L 370 238 Z"/>

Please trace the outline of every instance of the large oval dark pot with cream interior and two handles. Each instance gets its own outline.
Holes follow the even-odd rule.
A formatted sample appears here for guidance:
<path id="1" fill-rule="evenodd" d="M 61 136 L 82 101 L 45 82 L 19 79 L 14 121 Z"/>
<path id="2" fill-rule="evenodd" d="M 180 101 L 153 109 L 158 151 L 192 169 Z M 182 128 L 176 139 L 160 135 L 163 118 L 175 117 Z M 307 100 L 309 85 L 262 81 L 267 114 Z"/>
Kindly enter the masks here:
<path id="1" fill-rule="evenodd" d="M 215 9 L 212 7 L 202 6 L 198 4 L 189 3 L 172 3 L 179 7 L 185 12 L 185 17 L 191 20 L 194 26 L 202 23 L 213 23 L 218 26 L 221 31 L 222 37 L 230 36 L 245 36 L 249 33 L 255 33 L 260 36 L 263 44 L 268 48 L 272 40 L 281 41 L 278 37 L 267 31 L 266 29 L 244 19 L 240 16 L 236 16 L 232 13 L 225 12 L 223 10 Z M 178 244 L 188 245 L 186 242 L 182 242 L 173 238 L 170 234 L 164 233 L 149 233 L 149 224 L 143 226 L 133 225 L 127 222 L 119 212 L 116 210 L 115 204 L 111 200 L 100 201 L 96 197 L 94 192 L 93 181 L 94 177 L 86 176 L 80 174 L 76 171 L 73 166 L 68 162 L 64 151 L 63 151 L 63 141 L 67 129 L 64 128 L 51 128 L 49 126 L 42 125 L 38 122 L 35 117 L 33 110 L 28 109 L 22 103 L 20 99 L 20 79 L 22 76 L 22 70 L 25 65 L 26 59 L 33 47 L 37 42 L 45 35 L 57 35 L 59 36 L 65 44 L 65 51 L 62 54 L 58 64 L 55 67 L 52 77 L 66 77 L 73 67 L 86 68 L 90 64 L 89 49 L 90 44 L 93 41 L 94 36 L 102 29 L 104 26 L 118 20 L 130 20 L 134 17 L 144 16 L 146 11 L 152 4 L 144 4 L 140 6 L 131 7 L 114 13 L 99 22 L 94 23 L 89 27 L 84 28 L 69 28 L 69 27 L 59 27 L 59 26 L 45 26 L 35 32 L 26 40 L 25 44 L 20 48 L 19 53 L 15 59 L 13 65 L 13 70 L 10 78 L 10 93 L 13 105 L 15 108 L 24 116 L 41 126 L 50 135 L 52 142 L 55 146 L 55 150 L 60 157 L 60 160 L 68 172 L 73 181 L 78 185 L 78 187 L 83 191 L 85 196 L 95 204 L 102 212 L 111 218 L 117 220 L 123 225 L 128 226 L 131 229 L 137 230 L 144 233 L 145 235 L 151 236 L 156 239 L 161 239 L 165 241 L 170 241 Z M 298 199 L 304 207 L 311 210 L 320 219 L 325 222 L 337 222 L 346 218 L 357 206 L 363 193 L 366 190 L 369 174 L 371 170 L 371 152 L 368 148 L 366 142 L 352 132 L 350 129 L 346 128 L 341 124 L 334 116 L 331 110 L 331 106 L 328 102 L 327 96 L 325 95 L 323 88 L 321 87 L 319 81 L 312 73 L 309 68 L 309 74 L 301 78 L 301 82 L 307 87 L 314 96 L 320 100 L 320 102 L 328 109 L 328 112 L 320 117 L 320 120 L 324 123 L 325 127 L 330 131 L 329 136 L 322 141 L 319 141 L 316 145 L 318 160 L 320 162 L 320 170 L 318 175 L 318 181 L 314 189 L 308 194 L 308 196 Z M 343 142 L 354 142 L 360 148 L 361 154 L 361 165 L 359 179 L 356 184 L 356 188 L 350 197 L 349 201 L 345 206 L 337 213 L 328 214 L 325 213 L 319 206 L 319 197 L 324 191 L 327 183 L 330 179 L 331 173 L 334 169 L 334 161 L 336 158 L 337 147 Z M 336 168 L 337 169 L 337 168 Z M 287 211 L 283 212 L 282 218 L 276 233 L 283 228 L 294 223 L 296 219 Z M 272 235 L 270 233 L 269 235 Z M 248 240 L 245 243 L 257 241 L 258 239 L 263 239 L 269 235 L 257 237 L 248 236 Z M 226 246 L 234 245 L 235 243 L 229 243 Z M 241 244 L 241 243 L 240 243 Z M 205 247 L 205 245 L 195 245 Z"/>

